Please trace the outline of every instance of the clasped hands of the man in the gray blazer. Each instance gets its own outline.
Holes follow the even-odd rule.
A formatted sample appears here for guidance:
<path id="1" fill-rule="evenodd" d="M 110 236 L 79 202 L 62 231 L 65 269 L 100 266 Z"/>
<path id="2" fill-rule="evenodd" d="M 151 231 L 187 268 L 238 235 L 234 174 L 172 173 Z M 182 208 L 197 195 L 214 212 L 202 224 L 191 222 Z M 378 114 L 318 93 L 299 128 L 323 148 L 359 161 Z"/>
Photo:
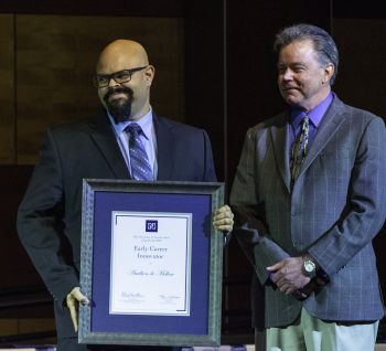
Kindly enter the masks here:
<path id="1" fill-rule="evenodd" d="M 290 295 L 304 287 L 311 280 L 309 277 L 304 276 L 302 266 L 302 257 L 290 257 L 278 262 L 274 266 L 267 267 L 267 270 L 272 272 L 270 278 L 279 290 L 286 295 Z"/>

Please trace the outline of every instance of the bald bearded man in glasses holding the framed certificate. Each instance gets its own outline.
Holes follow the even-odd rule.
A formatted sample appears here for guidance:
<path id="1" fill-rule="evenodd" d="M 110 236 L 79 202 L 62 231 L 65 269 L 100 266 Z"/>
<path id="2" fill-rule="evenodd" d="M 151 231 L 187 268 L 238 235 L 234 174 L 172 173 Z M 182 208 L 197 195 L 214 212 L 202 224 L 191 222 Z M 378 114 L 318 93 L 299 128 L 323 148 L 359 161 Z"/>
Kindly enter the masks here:
<path id="1" fill-rule="evenodd" d="M 207 134 L 152 110 L 153 78 L 154 67 L 139 43 L 117 40 L 107 45 L 95 74 L 105 111 L 47 130 L 20 204 L 20 240 L 54 297 L 58 351 L 118 350 L 77 343 L 77 307 L 79 302 L 88 304 L 78 280 L 82 180 L 216 181 Z M 139 130 L 137 136 L 126 131 L 133 125 Z M 130 149 L 137 137 L 144 152 Z M 214 223 L 228 230 L 230 216 L 225 208 Z"/>

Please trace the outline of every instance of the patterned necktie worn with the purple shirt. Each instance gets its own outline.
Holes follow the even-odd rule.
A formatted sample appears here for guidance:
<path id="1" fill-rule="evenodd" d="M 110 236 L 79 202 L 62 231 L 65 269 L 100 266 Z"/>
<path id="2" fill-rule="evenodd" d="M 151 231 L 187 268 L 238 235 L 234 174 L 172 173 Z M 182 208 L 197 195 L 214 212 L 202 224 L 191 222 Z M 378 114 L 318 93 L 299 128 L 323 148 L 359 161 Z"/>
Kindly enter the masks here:
<path id="1" fill-rule="evenodd" d="M 309 142 L 309 116 L 304 115 L 301 123 L 301 130 L 294 139 L 291 148 L 291 182 L 297 180 L 301 164 L 307 156 L 307 146 Z"/>

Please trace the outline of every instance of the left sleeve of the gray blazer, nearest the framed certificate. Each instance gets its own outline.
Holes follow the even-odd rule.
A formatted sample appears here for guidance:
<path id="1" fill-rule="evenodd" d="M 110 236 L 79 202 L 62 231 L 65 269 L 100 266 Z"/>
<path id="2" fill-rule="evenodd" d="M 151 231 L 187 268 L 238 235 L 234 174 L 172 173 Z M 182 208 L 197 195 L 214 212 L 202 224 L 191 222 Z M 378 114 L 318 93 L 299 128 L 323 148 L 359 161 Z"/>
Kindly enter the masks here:
<path id="1" fill-rule="evenodd" d="M 232 187 L 230 205 L 235 212 L 233 233 L 253 263 L 260 283 L 265 284 L 269 276 L 266 267 L 290 256 L 270 238 L 261 219 L 261 203 L 256 187 L 255 146 L 255 135 L 249 129 Z"/>

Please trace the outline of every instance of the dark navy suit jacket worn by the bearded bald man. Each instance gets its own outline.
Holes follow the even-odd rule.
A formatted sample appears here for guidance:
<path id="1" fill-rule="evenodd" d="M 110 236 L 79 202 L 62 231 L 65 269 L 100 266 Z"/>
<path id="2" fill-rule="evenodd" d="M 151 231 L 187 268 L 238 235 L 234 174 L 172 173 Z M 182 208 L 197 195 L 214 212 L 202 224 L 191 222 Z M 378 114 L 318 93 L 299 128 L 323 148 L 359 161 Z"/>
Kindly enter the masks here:
<path id="1" fill-rule="evenodd" d="M 153 117 L 158 180 L 216 181 L 211 142 L 203 129 Z M 58 337 L 75 337 L 66 295 L 79 286 L 82 180 L 130 179 L 106 115 L 47 130 L 18 232 L 55 300 Z"/>

